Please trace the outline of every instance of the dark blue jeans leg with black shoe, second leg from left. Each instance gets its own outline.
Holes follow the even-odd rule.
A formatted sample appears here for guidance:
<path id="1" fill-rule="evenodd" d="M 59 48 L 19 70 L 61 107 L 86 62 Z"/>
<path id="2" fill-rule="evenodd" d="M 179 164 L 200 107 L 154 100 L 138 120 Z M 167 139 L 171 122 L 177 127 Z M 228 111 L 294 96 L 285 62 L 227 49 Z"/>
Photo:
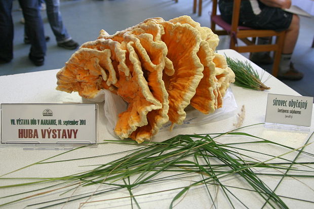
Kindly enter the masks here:
<path id="1" fill-rule="evenodd" d="M 47 47 L 38 0 L 19 0 L 19 3 L 25 18 L 25 32 L 31 44 L 29 58 L 33 62 L 37 58 L 39 62 L 34 64 L 43 65 Z"/>

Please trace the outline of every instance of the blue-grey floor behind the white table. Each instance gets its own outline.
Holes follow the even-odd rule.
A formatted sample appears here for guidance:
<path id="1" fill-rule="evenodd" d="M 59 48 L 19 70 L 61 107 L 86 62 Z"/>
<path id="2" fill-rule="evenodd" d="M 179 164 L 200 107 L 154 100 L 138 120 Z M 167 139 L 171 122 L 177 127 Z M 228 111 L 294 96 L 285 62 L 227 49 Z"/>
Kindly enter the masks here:
<path id="1" fill-rule="evenodd" d="M 203 14 L 192 13 L 193 0 L 61 0 L 63 22 L 74 40 L 80 44 L 94 40 L 100 29 L 109 34 L 135 25 L 149 17 L 163 17 L 165 20 L 181 15 L 189 15 L 202 26 L 210 27 L 209 0 L 203 1 Z M 47 56 L 44 66 L 35 67 L 28 60 L 29 46 L 23 43 L 24 25 L 20 23 L 21 11 L 14 1 L 13 19 L 15 24 L 14 59 L 11 63 L 0 64 L 0 75 L 56 69 L 64 66 L 73 50 L 57 47 L 54 35 L 47 21 L 46 11 L 42 12 L 46 35 L 51 37 L 47 43 Z M 314 36 L 314 17 L 301 17 L 301 30 L 293 62 L 305 76 L 300 81 L 284 81 L 303 96 L 314 96 L 314 49 L 310 48 Z M 228 38 L 220 37 L 218 49 L 228 48 Z M 269 67 L 268 67 L 269 68 Z M 272 87 L 276 88 L 276 87 Z"/>

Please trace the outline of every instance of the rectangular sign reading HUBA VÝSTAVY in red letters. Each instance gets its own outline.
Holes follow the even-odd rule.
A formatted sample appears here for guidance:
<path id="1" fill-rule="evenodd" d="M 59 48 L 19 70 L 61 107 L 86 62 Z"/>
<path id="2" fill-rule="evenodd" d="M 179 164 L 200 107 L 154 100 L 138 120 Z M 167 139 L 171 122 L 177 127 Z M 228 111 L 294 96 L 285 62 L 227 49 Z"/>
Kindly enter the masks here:
<path id="1" fill-rule="evenodd" d="M 97 104 L 1 104 L 1 143 L 95 144 Z"/>

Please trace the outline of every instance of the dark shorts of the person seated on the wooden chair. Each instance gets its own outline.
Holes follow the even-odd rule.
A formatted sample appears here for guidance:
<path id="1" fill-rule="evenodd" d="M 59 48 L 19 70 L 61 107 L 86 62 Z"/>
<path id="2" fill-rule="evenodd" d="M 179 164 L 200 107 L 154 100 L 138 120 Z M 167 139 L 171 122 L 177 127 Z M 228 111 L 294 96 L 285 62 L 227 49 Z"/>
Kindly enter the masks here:
<path id="1" fill-rule="evenodd" d="M 292 14 L 280 8 L 268 7 L 260 2 L 261 12 L 255 15 L 250 1 L 242 1 L 240 9 L 239 25 L 255 29 L 286 30 L 292 21 Z M 231 23 L 233 1 L 220 0 L 219 10 L 224 21 Z"/>

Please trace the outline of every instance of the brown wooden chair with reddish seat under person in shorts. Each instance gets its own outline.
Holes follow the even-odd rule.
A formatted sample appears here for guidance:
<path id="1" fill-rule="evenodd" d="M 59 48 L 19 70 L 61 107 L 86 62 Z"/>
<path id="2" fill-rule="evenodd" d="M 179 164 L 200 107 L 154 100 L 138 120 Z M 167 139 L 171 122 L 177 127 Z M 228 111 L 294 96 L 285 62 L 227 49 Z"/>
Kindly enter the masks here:
<path id="1" fill-rule="evenodd" d="M 222 20 L 220 15 L 217 15 L 217 0 L 213 0 L 213 8 L 211 14 L 211 29 L 217 35 L 230 36 L 230 49 L 239 53 L 244 52 L 274 52 L 274 60 L 272 66 L 272 75 L 277 76 L 281 58 L 281 53 L 284 46 L 286 31 L 274 30 L 258 30 L 249 27 L 239 26 L 239 12 L 241 0 L 233 0 L 232 22 L 231 25 Z M 223 30 L 216 30 L 216 25 L 219 25 Z M 256 37 L 271 37 L 276 36 L 276 43 L 267 45 L 256 45 Z M 238 39 L 241 39 L 246 45 L 239 46 Z"/>

